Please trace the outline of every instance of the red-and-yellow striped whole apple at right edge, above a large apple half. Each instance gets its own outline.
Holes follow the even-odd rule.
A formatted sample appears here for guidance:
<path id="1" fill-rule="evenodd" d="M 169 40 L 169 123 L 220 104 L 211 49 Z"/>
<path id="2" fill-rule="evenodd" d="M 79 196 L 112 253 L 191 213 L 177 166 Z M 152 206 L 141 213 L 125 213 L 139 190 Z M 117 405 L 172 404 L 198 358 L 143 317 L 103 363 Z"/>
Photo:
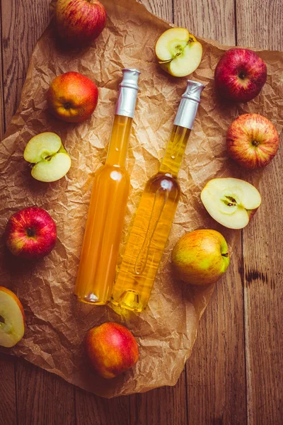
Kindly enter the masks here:
<path id="1" fill-rule="evenodd" d="M 270 120 L 257 113 L 240 115 L 226 135 L 229 157 L 247 168 L 262 168 L 270 163 L 279 148 L 279 135 Z"/>

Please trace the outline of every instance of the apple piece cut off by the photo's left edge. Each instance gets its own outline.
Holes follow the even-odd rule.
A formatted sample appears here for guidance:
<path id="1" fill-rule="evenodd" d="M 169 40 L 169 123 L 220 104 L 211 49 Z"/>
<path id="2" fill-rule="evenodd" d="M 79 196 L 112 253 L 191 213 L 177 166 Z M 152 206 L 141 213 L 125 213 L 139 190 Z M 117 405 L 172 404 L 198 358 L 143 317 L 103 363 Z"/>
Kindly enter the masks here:
<path id="1" fill-rule="evenodd" d="M 0 346 L 10 348 L 23 338 L 25 313 L 18 297 L 0 286 Z"/>

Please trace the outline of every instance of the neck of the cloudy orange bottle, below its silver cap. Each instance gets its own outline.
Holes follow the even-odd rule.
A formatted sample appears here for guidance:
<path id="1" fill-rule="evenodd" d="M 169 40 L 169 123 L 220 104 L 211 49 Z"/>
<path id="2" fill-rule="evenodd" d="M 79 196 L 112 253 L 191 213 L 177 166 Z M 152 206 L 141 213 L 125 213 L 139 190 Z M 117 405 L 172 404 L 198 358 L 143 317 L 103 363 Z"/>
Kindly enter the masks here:
<path id="1" fill-rule="evenodd" d="M 132 118 L 115 115 L 105 164 L 125 168 Z"/>

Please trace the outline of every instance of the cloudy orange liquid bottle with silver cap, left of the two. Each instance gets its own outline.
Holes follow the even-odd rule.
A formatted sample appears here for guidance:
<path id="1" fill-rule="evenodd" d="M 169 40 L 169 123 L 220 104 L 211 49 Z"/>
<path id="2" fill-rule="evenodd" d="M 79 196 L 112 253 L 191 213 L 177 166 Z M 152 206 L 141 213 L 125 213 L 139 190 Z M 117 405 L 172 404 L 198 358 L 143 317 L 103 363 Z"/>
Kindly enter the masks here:
<path id="1" fill-rule="evenodd" d="M 82 302 L 110 300 L 129 194 L 127 145 L 137 101 L 137 69 L 123 69 L 105 165 L 93 181 L 75 295 Z"/>

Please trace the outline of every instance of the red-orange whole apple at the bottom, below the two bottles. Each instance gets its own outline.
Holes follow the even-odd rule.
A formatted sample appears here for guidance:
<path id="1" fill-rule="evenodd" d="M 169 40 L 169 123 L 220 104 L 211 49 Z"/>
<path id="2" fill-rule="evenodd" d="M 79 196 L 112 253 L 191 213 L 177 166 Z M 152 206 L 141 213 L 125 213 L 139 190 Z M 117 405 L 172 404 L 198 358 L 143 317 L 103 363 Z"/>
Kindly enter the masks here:
<path id="1" fill-rule="evenodd" d="M 122 324 L 108 322 L 86 334 L 86 353 L 98 375 L 115 378 L 132 368 L 139 358 L 139 347 L 132 333 Z"/>

